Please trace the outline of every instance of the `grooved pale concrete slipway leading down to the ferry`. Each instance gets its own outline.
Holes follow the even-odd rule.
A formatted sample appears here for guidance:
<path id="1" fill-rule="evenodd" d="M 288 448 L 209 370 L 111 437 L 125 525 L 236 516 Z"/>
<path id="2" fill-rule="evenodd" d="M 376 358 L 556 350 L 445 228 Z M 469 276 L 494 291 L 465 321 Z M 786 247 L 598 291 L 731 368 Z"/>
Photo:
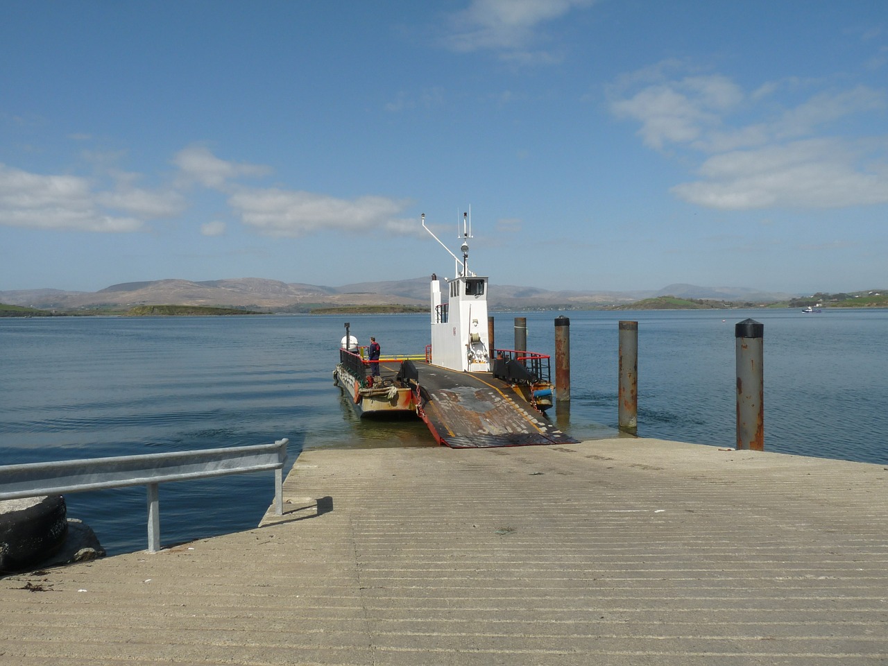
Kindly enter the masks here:
<path id="1" fill-rule="evenodd" d="M 884 465 L 315 450 L 285 497 L 266 527 L 0 579 L 0 663 L 888 663 Z"/>

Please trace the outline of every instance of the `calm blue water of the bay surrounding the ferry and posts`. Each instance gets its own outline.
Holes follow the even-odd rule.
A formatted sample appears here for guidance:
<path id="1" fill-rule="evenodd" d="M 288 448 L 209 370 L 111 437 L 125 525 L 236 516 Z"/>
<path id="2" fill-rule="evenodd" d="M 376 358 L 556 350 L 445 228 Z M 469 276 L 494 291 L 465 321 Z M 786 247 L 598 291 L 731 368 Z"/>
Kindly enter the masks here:
<path id="1" fill-rule="evenodd" d="M 527 317 L 527 346 L 553 353 L 559 313 Z M 496 313 L 511 347 L 514 313 Z M 638 433 L 732 447 L 734 324 L 765 324 L 765 448 L 888 463 L 888 311 L 568 313 L 569 414 L 581 439 L 614 433 L 617 321 L 638 321 Z M 344 321 L 383 353 L 422 353 L 425 315 L 0 319 L 0 464 L 266 443 L 433 446 L 418 421 L 357 419 L 332 382 Z M 723 321 L 726 320 L 726 321 Z M 483 454 L 479 454 L 483 455 Z M 164 545 L 255 527 L 270 473 L 161 487 Z M 110 553 L 142 550 L 143 487 L 72 494 Z"/>

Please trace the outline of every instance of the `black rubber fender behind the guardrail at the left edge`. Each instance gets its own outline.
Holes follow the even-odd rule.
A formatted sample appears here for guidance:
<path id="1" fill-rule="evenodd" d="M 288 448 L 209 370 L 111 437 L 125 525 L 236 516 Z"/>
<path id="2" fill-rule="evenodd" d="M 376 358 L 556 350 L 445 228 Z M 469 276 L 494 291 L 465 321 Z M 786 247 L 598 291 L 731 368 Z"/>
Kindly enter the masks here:
<path id="1" fill-rule="evenodd" d="M 23 571 L 50 557 L 66 537 L 63 496 L 0 502 L 0 575 Z"/>

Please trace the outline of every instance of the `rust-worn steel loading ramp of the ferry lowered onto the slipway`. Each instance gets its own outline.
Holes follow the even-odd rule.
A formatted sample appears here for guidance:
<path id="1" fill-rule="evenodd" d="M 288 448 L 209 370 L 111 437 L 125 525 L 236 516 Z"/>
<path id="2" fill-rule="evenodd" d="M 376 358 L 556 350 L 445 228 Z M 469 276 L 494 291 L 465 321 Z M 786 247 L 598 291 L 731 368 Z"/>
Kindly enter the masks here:
<path id="1" fill-rule="evenodd" d="M 573 444 L 511 385 L 489 373 L 456 372 L 416 363 L 419 416 L 435 439 L 450 448 Z"/>

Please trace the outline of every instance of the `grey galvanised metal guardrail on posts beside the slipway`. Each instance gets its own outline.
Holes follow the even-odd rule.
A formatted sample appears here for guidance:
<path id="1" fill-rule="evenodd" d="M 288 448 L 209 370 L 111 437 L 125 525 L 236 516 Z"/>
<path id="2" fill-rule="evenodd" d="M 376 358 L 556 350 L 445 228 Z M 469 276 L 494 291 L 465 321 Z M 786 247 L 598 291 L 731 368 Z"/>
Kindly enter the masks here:
<path id="1" fill-rule="evenodd" d="M 161 542 L 159 484 L 274 470 L 274 512 L 280 516 L 288 444 L 284 439 L 249 447 L 0 465 L 0 500 L 147 486 L 148 552 L 157 552 Z"/>

